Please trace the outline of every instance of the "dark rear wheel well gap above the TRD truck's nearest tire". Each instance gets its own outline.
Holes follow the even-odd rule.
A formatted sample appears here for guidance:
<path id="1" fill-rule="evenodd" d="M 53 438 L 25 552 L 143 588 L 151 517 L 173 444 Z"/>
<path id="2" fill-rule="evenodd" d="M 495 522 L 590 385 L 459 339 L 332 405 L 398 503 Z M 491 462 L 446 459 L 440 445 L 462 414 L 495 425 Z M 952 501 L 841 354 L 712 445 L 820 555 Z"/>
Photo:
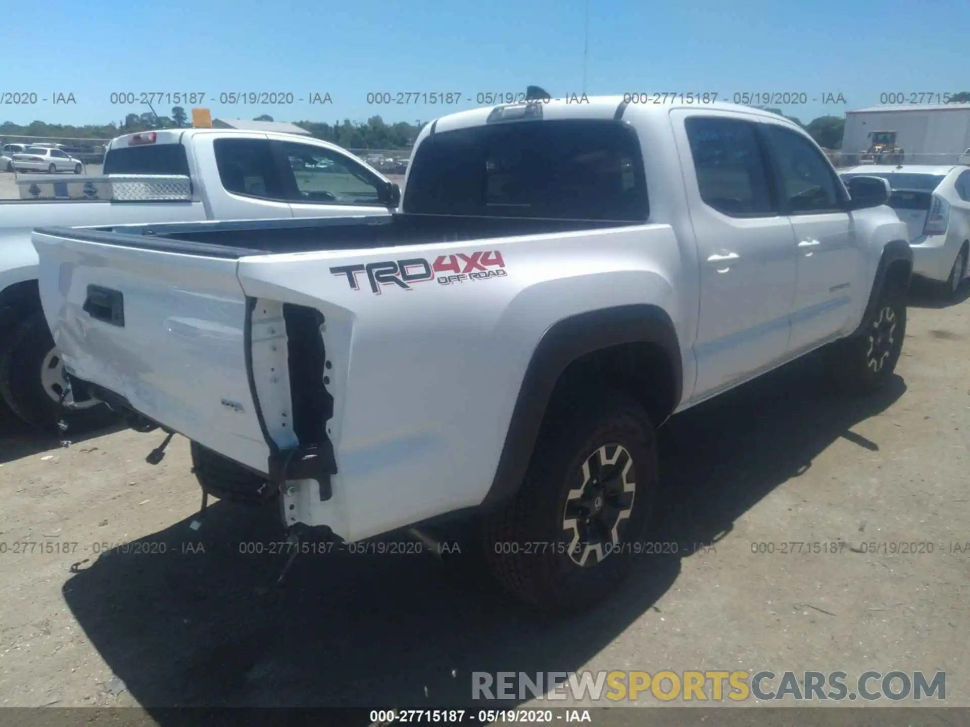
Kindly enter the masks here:
<path id="1" fill-rule="evenodd" d="M 572 396 L 595 387 L 629 395 L 650 416 L 655 427 L 677 406 L 673 364 L 657 343 L 622 343 L 581 356 L 566 366 L 553 389 L 548 411 Z"/>

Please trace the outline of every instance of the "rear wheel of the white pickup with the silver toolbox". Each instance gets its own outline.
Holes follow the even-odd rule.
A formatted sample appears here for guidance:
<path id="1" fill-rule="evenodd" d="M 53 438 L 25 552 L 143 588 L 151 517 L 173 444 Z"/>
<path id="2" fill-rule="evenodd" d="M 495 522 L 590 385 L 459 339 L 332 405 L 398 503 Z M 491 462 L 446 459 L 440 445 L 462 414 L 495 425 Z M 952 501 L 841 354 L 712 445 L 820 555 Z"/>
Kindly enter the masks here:
<path id="1" fill-rule="evenodd" d="M 0 344 L 0 395 L 34 427 L 52 429 L 63 420 L 72 427 L 89 428 L 114 418 L 107 405 L 93 398 L 75 401 L 69 389 L 64 362 L 44 313 L 38 311 Z M 65 405 L 72 401 L 74 407 Z"/>

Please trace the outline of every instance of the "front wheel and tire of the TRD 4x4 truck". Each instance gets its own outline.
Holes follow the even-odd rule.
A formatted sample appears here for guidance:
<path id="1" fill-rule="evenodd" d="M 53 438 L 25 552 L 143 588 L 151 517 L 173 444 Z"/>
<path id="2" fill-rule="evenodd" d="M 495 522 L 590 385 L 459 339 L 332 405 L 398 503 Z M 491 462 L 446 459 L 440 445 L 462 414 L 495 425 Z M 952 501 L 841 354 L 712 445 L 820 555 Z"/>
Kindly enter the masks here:
<path id="1" fill-rule="evenodd" d="M 831 365 L 851 392 L 870 394 L 882 389 L 899 362 L 906 337 L 906 298 L 893 286 L 886 287 L 862 330 L 831 350 Z"/>

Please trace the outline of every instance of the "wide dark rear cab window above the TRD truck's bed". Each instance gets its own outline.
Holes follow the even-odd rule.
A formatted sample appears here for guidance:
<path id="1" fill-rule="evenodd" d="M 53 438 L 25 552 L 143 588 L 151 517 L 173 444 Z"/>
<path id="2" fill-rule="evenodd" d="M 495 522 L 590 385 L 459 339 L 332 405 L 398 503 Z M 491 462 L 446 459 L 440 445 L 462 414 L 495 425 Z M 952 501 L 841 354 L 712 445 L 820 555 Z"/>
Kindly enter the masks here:
<path id="1" fill-rule="evenodd" d="M 418 147 L 405 211 L 644 222 L 634 132 L 612 120 L 520 121 L 439 132 Z"/>

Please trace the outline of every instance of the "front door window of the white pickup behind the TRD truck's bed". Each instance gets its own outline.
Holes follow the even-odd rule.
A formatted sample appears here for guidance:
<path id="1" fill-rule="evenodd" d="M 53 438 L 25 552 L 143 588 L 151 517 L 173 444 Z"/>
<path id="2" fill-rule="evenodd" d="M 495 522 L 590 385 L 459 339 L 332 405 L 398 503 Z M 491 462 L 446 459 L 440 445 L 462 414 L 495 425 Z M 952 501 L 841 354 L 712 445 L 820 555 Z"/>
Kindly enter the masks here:
<path id="1" fill-rule="evenodd" d="M 283 152 L 296 180 L 293 202 L 380 204 L 380 180 L 342 154 L 299 142 L 283 142 Z"/>

